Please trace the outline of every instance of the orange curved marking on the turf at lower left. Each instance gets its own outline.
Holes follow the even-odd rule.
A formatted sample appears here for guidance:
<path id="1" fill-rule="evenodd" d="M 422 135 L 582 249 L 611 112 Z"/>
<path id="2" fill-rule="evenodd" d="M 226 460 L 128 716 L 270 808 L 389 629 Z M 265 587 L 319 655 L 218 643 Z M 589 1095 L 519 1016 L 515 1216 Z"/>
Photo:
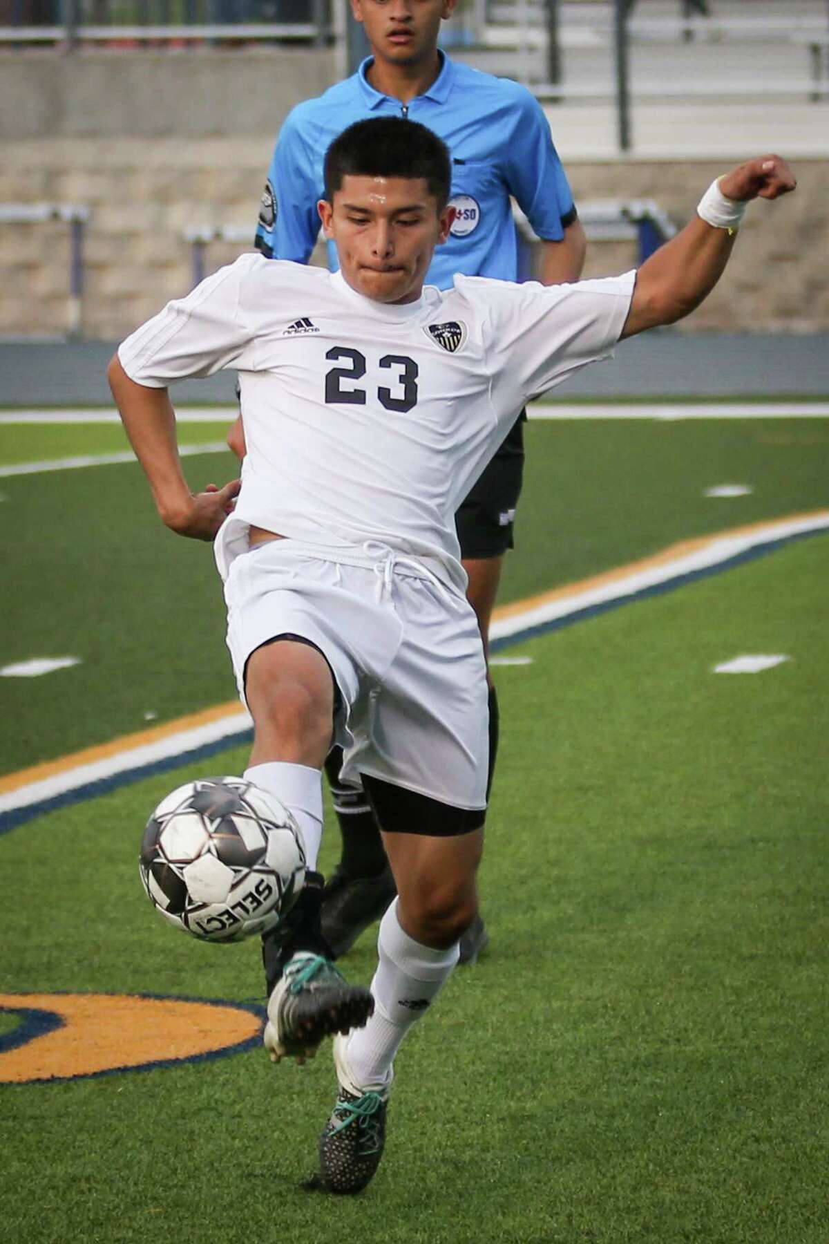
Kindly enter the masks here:
<path id="1" fill-rule="evenodd" d="M 218 1054 L 256 1037 L 261 1020 L 232 1004 L 129 994 L 0 994 L 11 1011 L 51 1011 L 63 1028 L 0 1051 L 0 1082 L 92 1076 Z"/>

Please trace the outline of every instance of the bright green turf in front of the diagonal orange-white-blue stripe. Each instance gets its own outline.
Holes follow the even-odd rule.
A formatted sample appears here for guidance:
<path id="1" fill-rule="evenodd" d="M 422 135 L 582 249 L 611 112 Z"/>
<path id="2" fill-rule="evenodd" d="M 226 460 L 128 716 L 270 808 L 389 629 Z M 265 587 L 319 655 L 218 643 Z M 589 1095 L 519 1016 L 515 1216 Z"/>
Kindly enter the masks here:
<path id="1" fill-rule="evenodd" d="M 364 1197 L 301 1188 L 328 1051 L 305 1069 L 251 1051 L 2 1088 L 9 1239 L 824 1244 L 828 555 L 827 537 L 788 546 L 496 671 L 492 945 L 403 1047 Z M 792 659 L 711 672 L 741 652 Z M 135 876 L 153 804 L 244 763 L 1 838 L 25 898 L 4 988 L 255 996 L 256 945 L 176 934 Z M 349 975 L 373 962 L 367 937 Z"/>

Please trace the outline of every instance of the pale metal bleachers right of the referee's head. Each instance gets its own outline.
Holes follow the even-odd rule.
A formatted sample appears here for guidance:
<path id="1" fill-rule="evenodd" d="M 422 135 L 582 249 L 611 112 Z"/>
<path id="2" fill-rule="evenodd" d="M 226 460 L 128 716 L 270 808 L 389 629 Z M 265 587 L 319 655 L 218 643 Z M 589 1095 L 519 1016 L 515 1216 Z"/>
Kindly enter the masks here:
<path id="1" fill-rule="evenodd" d="M 682 0 L 631 5 L 633 95 L 747 96 L 758 91 L 759 70 L 764 96 L 829 97 L 827 0 L 708 0 L 707 7 L 703 16 Z M 610 98 L 614 20 L 613 0 L 467 0 L 445 42 L 456 58 L 515 77 L 539 98 Z"/>

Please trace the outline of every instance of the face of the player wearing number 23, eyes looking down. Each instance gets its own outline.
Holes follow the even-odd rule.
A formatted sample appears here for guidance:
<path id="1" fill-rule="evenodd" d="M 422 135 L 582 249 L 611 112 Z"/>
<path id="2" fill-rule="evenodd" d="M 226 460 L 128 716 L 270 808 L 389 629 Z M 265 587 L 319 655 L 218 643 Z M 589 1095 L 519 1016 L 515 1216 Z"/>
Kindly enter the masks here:
<path id="1" fill-rule="evenodd" d="M 349 173 L 333 204 L 319 202 L 319 216 L 353 290 L 375 302 L 414 302 L 454 209 L 437 211 L 424 178 Z"/>

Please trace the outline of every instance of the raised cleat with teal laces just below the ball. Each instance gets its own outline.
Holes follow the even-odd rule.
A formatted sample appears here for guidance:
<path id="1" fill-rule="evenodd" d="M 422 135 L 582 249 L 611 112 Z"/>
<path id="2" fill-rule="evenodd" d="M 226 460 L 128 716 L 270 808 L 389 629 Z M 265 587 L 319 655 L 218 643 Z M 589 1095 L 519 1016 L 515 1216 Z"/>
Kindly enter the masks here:
<path id="1" fill-rule="evenodd" d="M 312 1059 L 324 1036 L 363 1028 L 374 1010 L 364 985 L 349 985 L 319 954 L 293 955 L 267 1004 L 265 1049 L 271 1062 Z"/>

